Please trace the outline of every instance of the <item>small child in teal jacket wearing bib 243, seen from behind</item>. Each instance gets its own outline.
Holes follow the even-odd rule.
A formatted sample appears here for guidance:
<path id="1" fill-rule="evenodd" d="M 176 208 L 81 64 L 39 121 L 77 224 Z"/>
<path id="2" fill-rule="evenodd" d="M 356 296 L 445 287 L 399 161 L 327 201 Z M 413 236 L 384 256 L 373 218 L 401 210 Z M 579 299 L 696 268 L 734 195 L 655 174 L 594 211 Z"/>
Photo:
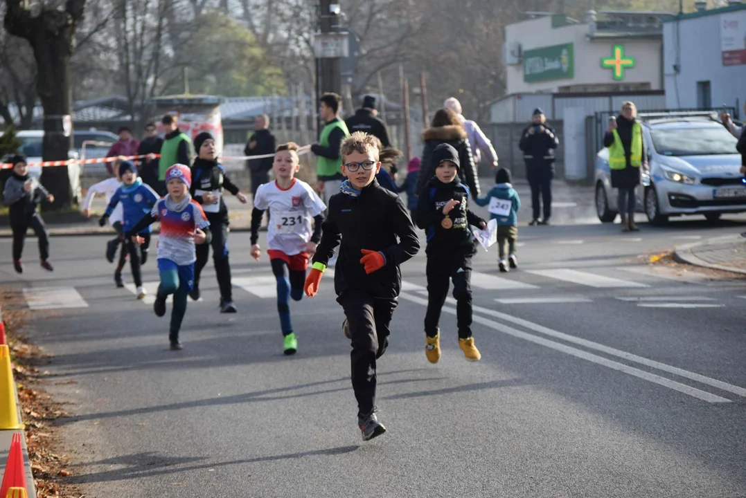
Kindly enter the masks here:
<path id="1" fill-rule="evenodd" d="M 495 186 L 485 197 L 474 199 L 478 205 L 489 204 L 489 217 L 498 220 L 498 252 L 500 271 L 509 272 L 518 267 L 515 257 L 515 242 L 518 240 L 518 210 L 521 209 L 521 198 L 510 185 L 510 171 L 501 167 L 495 175 Z M 506 256 L 507 246 L 507 258 Z"/>

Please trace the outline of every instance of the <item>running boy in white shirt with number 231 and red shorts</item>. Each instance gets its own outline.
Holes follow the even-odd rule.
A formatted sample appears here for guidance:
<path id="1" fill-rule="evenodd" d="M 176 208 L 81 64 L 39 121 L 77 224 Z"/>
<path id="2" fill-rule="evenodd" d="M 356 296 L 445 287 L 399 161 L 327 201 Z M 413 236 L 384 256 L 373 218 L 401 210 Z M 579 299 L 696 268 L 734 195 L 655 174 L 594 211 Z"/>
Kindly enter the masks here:
<path id="1" fill-rule="evenodd" d="M 326 210 L 326 205 L 313 188 L 295 178 L 299 169 L 298 145 L 290 142 L 278 146 L 272 165 L 275 181 L 260 185 L 254 196 L 254 211 L 251 214 L 251 256 L 259 261 L 259 227 L 264 211 L 269 209 L 267 253 L 272 273 L 277 278 L 278 312 L 285 338 L 285 354 L 295 354 L 298 350 L 298 339 L 290 321 L 290 298 L 300 301 L 303 297 L 308 259 L 316 252 L 316 244 L 321 240 L 322 213 Z M 316 223 L 313 231 L 311 218 Z"/>

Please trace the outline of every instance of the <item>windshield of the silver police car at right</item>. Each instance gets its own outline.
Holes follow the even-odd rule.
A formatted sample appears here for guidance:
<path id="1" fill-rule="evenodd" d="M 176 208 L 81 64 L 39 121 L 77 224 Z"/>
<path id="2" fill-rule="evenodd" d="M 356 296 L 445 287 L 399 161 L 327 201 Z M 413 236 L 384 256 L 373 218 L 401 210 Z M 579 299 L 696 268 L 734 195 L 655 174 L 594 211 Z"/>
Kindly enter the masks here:
<path id="1" fill-rule="evenodd" d="M 651 130 L 653 147 L 662 156 L 737 154 L 738 140 L 724 127 Z"/>

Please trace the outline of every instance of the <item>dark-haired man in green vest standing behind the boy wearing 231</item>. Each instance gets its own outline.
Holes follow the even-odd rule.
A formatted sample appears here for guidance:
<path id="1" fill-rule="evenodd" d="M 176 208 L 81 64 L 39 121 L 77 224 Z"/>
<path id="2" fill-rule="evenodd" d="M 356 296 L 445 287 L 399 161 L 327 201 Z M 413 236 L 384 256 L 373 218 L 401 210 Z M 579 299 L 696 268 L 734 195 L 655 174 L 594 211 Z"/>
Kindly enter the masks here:
<path id="1" fill-rule="evenodd" d="M 329 198 L 339 192 L 339 187 L 345 180 L 339 166 L 342 159 L 339 156 L 339 146 L 342 140 L 350 136 L 345 121 L 339 118 L 342 108 L 342 97 L 336 93 L 325 93 L 322 95 L 319 105 L 319 115 L 326 121 L 326 126 L 319 136 L 319 143 L 311 146 L 311 152 L 316 154 L 316 191 L 322 194 L 326 205 Z"/>

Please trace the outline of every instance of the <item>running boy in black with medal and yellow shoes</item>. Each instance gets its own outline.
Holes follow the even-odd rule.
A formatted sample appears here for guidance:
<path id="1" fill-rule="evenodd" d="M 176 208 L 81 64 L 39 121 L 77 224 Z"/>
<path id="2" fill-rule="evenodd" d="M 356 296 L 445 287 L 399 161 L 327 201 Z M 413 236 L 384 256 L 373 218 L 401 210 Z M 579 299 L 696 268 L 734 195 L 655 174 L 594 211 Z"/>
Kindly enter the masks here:
<path id="1" fill-rule="evenodd" d="M 485 229 L 484 220 L 468 209 L 469 190 L 458 176 L 459 155 L 449 144 L 433 150 L 435 176 L 427 182 L 417 205 L 417 226 L 427 232 L 427 314 L 424 317 L 425 356 L 440 360 L 440 312 L 454 281 L 459 346 L 469 361 L 481 354 L 471 336 L 471 257 L 476 252 L 469 225 Z"/>

